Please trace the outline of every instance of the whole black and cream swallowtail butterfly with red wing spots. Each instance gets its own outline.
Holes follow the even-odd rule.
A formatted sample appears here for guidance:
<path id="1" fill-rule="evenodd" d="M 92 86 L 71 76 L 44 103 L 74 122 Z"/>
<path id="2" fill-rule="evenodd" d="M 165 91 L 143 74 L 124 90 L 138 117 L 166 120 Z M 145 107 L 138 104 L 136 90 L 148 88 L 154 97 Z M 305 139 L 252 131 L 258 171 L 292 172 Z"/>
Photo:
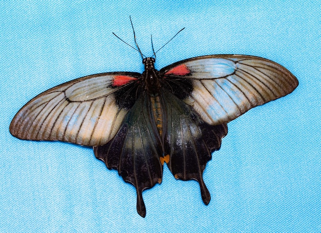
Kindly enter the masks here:
<path id="1" fill-rule="evenodd" d="M 136 43 L 135 32 L 134 38 Z M 227 123 L 291 93 L 298 80 L 255 56 L 199 56 L 158 71 L 155 52 L 141 55 L 142 74 L 94 74 L 39 94 L 15 115 L 10 133 L 93 146 L 96 158 L 135 186 L 142 217 L 142 192 L 162 182 L 164 163 L 176 179 L 198 181 L 207 205 L 203 172 L 228 133 Z"/>

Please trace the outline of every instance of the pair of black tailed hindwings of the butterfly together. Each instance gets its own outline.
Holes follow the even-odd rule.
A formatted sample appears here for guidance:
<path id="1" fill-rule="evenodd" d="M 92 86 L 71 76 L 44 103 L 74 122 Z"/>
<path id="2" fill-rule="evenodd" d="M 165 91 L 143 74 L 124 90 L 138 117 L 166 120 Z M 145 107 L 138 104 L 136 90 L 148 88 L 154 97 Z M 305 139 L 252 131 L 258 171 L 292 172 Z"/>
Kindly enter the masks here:
<path id="1" fill-rule="evenodd" d="M 106 145 L 94 147 L 96 157 L 135 186 L 137 211 L 143 217 L 146 208 L 142 192 L 162 181 L 164 162 L 176 179 L 197 180 L 203 201 L 208 204 L 210 194 L 203 172 L 211 153 L 219 150 L 227 125 L 207 124 L 189 105 L 162 90 L 157 95 L 163 122 L 159 130 L 153 99 L 147 93 L 141 94 L 115 137 Z"/>

